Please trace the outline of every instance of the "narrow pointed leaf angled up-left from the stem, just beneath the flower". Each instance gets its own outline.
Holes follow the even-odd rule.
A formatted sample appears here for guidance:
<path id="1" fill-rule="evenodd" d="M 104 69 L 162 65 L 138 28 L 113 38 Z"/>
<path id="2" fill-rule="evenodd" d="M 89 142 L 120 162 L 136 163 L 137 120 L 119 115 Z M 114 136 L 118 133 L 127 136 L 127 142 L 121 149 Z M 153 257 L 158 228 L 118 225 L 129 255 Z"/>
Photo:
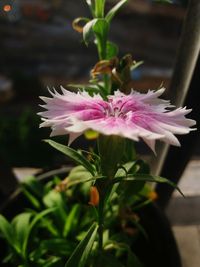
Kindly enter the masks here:
<path id="1" fill-rule="evenodd" d="M 52 140 L 45 140 L 48 144 L 50 144 L 52 147 L 57 149 L 58 151 L 62 152 L 69 158 L 71 158 L 74 162 L 84 166 L 92 175 L 95 174 L 94 167 L 93 165 L 81 154 L 79 154 L 76 150 L 68 147 L 61 145 L 57 142 L 54 142 Z"/>

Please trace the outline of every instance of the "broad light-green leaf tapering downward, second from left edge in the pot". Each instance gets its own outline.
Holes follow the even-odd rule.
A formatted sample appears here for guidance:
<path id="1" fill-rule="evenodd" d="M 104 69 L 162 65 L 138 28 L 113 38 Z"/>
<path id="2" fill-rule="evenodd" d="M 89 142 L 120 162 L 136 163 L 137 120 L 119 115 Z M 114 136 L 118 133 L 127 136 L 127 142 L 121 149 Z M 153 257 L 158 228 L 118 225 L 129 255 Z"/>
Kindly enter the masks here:
<path id="1" fill-rule="evenodd" d="M 30 212 L 25 212 L 17 215 L 12 220 L 12 226 L 14 228 L 15 237 L 18 241 L 20 251 L 22 251 L 22 248 L 24 246 L 31 216 L 32 214 Z"/>

